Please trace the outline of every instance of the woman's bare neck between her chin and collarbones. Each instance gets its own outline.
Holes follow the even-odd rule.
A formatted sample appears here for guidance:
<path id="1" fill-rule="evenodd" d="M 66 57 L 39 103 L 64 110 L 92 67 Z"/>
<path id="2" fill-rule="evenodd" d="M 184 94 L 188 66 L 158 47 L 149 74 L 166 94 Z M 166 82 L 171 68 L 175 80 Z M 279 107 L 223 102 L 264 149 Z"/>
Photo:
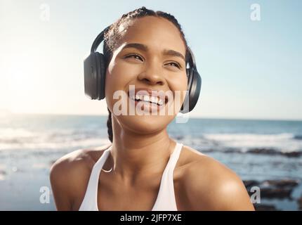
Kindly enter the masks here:
<path id="1" fill-rule="evenodd" d="M 166 129 L 154 134 L 138 134 L 124 129 L 112 117 L 112 164 L 114 174 L 125 182 L 141 176 L 162 173 L 176 146 Z"/>

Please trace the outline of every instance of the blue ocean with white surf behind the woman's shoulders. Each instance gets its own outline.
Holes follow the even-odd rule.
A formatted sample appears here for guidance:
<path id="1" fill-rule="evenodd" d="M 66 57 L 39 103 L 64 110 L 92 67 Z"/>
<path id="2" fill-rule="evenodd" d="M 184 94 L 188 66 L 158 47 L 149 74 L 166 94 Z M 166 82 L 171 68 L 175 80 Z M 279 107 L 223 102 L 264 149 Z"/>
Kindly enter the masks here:
<path id="1" fill-rule="evenodd" d="M 91 115 L 0 117 L 0 210 L 55 210 L 52 163 L 73 150 L 110 143 L 106 122 L 107 116 Z M 301 207 L 302 121 L 190 118 L 174 120 L 168 131 L 230 167 L 244 182 L 263 186 L 258 206 Z"/>

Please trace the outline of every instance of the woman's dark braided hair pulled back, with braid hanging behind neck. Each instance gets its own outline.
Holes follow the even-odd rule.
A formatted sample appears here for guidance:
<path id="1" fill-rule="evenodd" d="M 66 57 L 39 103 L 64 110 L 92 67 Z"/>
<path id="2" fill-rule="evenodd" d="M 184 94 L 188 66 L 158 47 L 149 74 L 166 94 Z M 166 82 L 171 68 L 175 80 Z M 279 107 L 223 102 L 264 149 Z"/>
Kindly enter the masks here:
<path id="1" fill-rule="evenodd" d="M 131 23 L 133 22 L 134 19 L 136 18 L 143 18 L 145 16 L 155 16 L 155 17 L 162 17 L 166 18 L 166 20 L 169 20 L 173 25 L 175 25 L 180 34 L 181 38 L 183 39 L 183 42 L 185 44 L 185 61 L 188 63 L 188 43 L 185 40 L 185 34 L 183 34 L 183 30 L 181 29 L 180 24 L 176 20 L 176 18 L 169 14 L 169 13 L 164 13 L 162 11 L 152 11 L 150 9 L 145 8 L 144 6 L 141 8 L 138 8 L 134 11 L 131 11 L 129 13 L 126 13 L 122 15 L 119 20 L 117 20 L 115 23 L 110 25 L 109 29 L 105 31 L 104 33 L 104 44 L 103 44 L 103 55 L 105 56 L 105 65 L 106 68 L 110 63 L 110 60 L 113 56 L 113 52 L 117 47 L 119 46 L 119 40 L 123 37 L 123 28 L 129 27 Z M 108 132 L 108 138 L 112 142 L 113 141 L 113 134 L 112 134 L 112 115 L 109 110 L 108 110 L 108 120 L 107 120 L 107 132 Z"/>

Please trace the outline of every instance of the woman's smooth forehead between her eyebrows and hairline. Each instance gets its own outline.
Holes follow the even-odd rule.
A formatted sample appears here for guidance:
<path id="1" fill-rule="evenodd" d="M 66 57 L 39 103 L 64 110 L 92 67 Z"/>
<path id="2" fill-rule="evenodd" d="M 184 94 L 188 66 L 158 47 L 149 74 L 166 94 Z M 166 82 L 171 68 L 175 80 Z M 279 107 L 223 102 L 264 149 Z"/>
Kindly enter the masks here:
<path id="1" fill-rule="evenodd" d="M 157 48 L 172 49 L 185 54 L 185 43 L 178 28 L 165 18 L 145 16 L 133 20 L 129 27 L 122 27 L 123 37 L 119 46 L 125 43 L 140 43 Z"/>

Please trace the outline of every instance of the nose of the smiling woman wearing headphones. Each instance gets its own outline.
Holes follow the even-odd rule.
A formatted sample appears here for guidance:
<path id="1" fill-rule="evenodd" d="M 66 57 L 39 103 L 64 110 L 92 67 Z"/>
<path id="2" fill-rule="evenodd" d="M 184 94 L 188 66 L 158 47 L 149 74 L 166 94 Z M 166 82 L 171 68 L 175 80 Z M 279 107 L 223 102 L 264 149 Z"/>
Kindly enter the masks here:
<path id="1" fill-rule="evenodd" d="M 138 75 L 138 79 L 143 82 L 147 82 L 150 85 L 164 85 L 164 77 L 162 76 L 162 70 L 155 66 L 149 66 L 144 72 Z"/>

